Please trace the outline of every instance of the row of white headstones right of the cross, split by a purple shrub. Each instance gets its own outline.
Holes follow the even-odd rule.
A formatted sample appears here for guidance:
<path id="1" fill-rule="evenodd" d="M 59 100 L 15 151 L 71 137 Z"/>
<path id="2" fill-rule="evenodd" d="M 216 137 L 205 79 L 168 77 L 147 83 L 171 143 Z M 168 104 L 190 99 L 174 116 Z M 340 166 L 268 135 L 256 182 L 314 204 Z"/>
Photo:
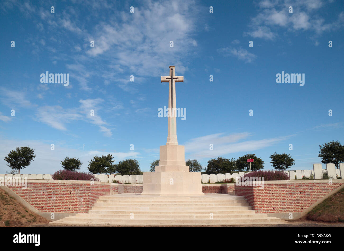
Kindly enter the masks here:
<path id="1" fill-rule="evenodd" d="M 339 165 L 339 168 L 335 168 L 335 165 L 330 163 L 326 164 L 326 169 L 322 169 L 321 164 L 313 164 L 313 170 L 295 170 L 295 171 L 284 171 L 289 174 L 290 179 L 302 179 L 302 177 L 310 178 L 313 175 L 315 179 L 322 179 L 323 173 L 327 173 L 333 179 L 342 178 L 344 179 L 344 163 Z M 234 178 L 239 179 L 244 172 L 233 173 L 233 174 L 202 174 L 202 183 L 211 183 L 224 181 L 224 179 Z"/>

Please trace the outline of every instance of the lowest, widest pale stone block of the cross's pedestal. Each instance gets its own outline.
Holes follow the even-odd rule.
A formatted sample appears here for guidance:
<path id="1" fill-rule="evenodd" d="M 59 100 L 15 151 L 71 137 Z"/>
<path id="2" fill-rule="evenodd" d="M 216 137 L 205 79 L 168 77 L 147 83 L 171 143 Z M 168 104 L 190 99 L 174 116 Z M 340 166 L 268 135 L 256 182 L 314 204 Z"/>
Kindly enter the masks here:
<path id="1" fill-rule="evenodd" d="M 202 193 L 201 173 L 173 171 L 143 173 L 143 190 L 141 195 L 204 195 Z"/>

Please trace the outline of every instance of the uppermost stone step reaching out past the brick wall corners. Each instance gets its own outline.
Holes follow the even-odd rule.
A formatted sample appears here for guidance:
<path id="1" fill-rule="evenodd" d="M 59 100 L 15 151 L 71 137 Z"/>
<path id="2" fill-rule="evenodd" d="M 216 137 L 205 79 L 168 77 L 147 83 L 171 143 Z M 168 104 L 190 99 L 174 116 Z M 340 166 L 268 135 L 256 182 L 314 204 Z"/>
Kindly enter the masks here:
<path id="1" fill-rule="evenodd" d="M 99 219 L 99 218 L 107 218 L 107 219 L 130 219 L 129 214 L 76 214 L 76 218 L 84 218 L 84 219 Z M 209 214 L 179 214 L 179 215 L 171 215 L 171 214 L 133 214 L 135 219 L 209 219 Z M 214 219 L 224 219 L 224 218 L 267 218 L 267 214 L 213 214 Z"/>

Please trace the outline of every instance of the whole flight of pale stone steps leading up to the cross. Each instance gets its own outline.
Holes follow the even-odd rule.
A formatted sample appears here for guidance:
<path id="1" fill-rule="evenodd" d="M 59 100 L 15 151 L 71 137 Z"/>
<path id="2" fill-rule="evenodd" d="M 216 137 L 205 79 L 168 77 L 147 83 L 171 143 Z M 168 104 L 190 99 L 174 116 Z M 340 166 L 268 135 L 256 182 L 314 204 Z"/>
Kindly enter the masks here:
<path id="1" fill-rule="evenodd" d="M 191 226 L 284 223 L 255 214 L 243 196 L 206 194 L 158 197 L 140 194 L 100 196 L 89 213 L 50 222 L 56 226 Z"/>

